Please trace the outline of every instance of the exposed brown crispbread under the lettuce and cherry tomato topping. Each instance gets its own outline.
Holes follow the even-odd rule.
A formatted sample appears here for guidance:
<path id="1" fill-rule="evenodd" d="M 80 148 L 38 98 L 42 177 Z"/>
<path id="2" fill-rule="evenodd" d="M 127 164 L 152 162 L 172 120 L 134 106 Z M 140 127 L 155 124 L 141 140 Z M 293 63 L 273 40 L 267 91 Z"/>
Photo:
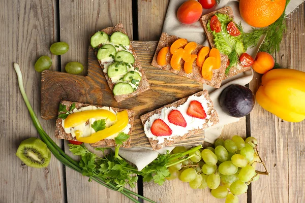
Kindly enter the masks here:
<path id="1" fill-rule="evenodd" d="M 232 18 L 234 20 L 234 14 L 233 14 L 233 10 L 231 7 L 224 7 L 222 9 L 219 9 L 217 11 L 214 11 L 214 12 L 211 12 L 211 13 L 208 13 L 206 15 L 203 15 L 201 16 L 200 18 L 200 22 L 201 22 L 201 25 L 204 29 L 204 32 L 205 32 L 205 35 L 206 35 L 206 38 L 210 44 L 211 47 L 215 48 L 215 44 L 214 44 L 214 36 L 212 35 L 211 32 L 208 31 L 207 29 L 207 23 L 208 21 L 211 19 L 211 17 L 213 17 L 215 14 L 217 13 L 221 13 L 221 14 L 226 14 L 228 15 L 230 18 Z M 234 67 L 231 67 L 229 73 L 227 75 L 225 75 L 224 79 L 227 79 L 227 78 L 230 78 L 232 76 L 235 76 L 239 73 L 242 73 L 242 72 L 245 72 L 245 71 L 248 71 L 249 69 L 251 69 L 251 66 L 249 67 L 244 67 L 240 64 L 240 62 L 238 61 L 237 65 L 234 66 Z"/>

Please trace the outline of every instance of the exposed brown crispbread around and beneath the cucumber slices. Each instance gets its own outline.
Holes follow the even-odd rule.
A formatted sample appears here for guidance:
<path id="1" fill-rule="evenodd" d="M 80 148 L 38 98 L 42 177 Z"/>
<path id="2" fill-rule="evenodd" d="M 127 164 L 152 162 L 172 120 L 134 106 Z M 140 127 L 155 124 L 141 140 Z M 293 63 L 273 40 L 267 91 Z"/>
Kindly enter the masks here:
<path id="1" fill-rule="evenodd" d="M 122 32 L 125 35 L 127 35 L 127 32 L 126 32 L 125 28 L 123 27 L 123 24 L 121 24 L 121 23 L 115 25 L 114 27 L 107 27 L 105 29 L 102 29 L 101 31 L 107 33 L 107 35 L 111 35 L 113 32 L 116 32 L 116 31 Z M 100 48 L 100 47 L 102 47 L 102 44 L 98 46 L 98 48 Z M 144 91 L 149 89 L 148 80 L 147 80 L 147 78 L 145 76 L 145 73 L 144 73 L 144 71 L 142 69 L 141 63 L 138 60 L 138 57 L 137 57 L 137 55 L 135 53 L 135 50 L 133 49 L 131 44 L 129 45 L 129 47 L 130 47 L 129 49 L 132 51 L 132 54 L 133 54 L 133 56 L 135 58 L 134 66 L 139 68 L 139 72 L 141 72 L 141 74 L 142 74 L 142 79 L 141 79 L 141 81 L 139 83 L 139 87 L 133 93 L 131 93 L 131 94 L 122 94 L 122 95 L 114 95 L 114 99 L 117 102 L 123 101 L 123 100 L 125 100 L 127 98 L 135 96 L 135 95 L 137 95 L 137 94 L 139 94 L 141 92 L 144 92 Z M 96 55 L 98 54 L 98 49 L 95 50 L 95 54 Z M 101 63 L 101 60 L 98 60 L 98 61 L 99 61 L 100 65 L 101 65 L 101 68 L 104 69 L 104 65 Z M 114 84 L 112 83 L 111 78 L 108 77 L 107 73 L 104 73 L 104 75 L 105 75 L 105 78 L 107 80 L 107 83 L 108 83 L 111 91 L 113 91 Z"/>

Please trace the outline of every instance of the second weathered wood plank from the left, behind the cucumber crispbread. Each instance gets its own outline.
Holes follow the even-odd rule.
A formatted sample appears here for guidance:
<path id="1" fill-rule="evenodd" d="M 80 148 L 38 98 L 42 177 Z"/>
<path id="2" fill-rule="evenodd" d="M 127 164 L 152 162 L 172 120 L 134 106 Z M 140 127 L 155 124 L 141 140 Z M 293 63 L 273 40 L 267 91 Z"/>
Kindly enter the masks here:
<path id="1" fill-rule="evenodd" d="M 132 38 L 132 1 L 60 1 L 60 40 L 67 42 L 70 50 L 61 56 L 62 71 L 71 61 L 84 65 L 87 73 L 88 39 L 96 30 L 121 22 Z M 109 89 L 108 86 L 106 88 Z M 65 141 L 65 151 L 68 151 Z M 130 202 L 128 198 L 95 182 L 88 183 L 86 177 L 66 169 L 68 202 Z M 136 188 L 133 189 L 136 191 Z"/>

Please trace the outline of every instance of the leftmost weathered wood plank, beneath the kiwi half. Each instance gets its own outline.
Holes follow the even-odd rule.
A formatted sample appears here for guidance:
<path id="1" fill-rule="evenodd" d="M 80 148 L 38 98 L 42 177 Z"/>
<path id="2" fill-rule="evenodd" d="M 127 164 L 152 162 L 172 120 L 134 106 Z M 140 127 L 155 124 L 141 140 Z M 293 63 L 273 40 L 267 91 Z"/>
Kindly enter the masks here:
<path id="1" fill-rule="evenodd" d="M 40 73 L 34 70 L 41 55 L 49 55 L 56 39 L 55 1 L 3 1 L 0 7 L 0 201 L 64 202 L 62 164 L 52 156 L 46 168 L 23 165 L 15 156 L 21 141 L 39 137 L 18 88 L 13 62 L 21 67 L 25 91 L 40 118 Z M 57 57 L 52 56 L 52 70 Z M 52 134 L 55 122 L 41 118 L 42 126 Z M 55 140 L 60 146 L 60 141 Z"/>

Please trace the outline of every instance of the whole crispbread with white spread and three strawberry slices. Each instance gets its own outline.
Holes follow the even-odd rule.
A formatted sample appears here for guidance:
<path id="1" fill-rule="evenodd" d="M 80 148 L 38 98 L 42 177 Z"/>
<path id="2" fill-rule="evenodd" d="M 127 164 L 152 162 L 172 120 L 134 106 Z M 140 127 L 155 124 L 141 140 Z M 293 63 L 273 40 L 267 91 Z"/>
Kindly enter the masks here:
<path id="1" fill-rule="evenodd" d="M 142 115 L 144 132 L 154 150 L 187 139 L 219 122 L 207 90 Z"/>

